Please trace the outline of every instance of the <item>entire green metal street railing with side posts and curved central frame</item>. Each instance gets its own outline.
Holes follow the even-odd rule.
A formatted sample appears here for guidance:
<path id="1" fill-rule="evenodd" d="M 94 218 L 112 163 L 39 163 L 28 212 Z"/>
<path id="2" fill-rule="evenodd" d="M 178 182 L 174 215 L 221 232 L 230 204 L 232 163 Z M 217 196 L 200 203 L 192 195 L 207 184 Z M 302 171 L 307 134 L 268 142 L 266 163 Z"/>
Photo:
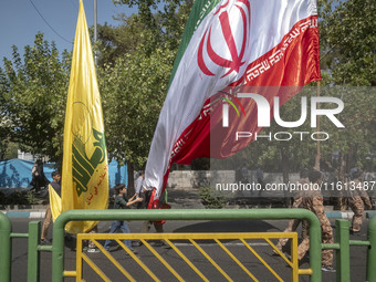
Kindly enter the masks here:
<path id="1" fill-rule="evenodd" d="M 349 246 L 368 247 L 366 281 L 376 282 L 376 217 L 369 221 L 368 241 L 349 240 L 348 220 L 336 220 L 336 240 L 321 243 L 321 226 L 314 213 L 304 209 L 257 210 L 71 210 L 62 213 L 53 226 L 53 246 L 40 246 L 40 222 L 29 223 L 29 233 L 12 233 L 9 218 L 0 212 L 0 282 L 11 281 L 12 238 L 29 238 L 28 281 L 39 281 L 40 252 L 52 251 L 53 281 L 64 278 L 64 227 L 73 220 L 250 220 L 305 219 L 310 223 L 311 281 L 321 281 L 322 249 L 336 250 L 336 281 L 351 281 Z M 65 273 L 66 274 L 66 273 Z"/>

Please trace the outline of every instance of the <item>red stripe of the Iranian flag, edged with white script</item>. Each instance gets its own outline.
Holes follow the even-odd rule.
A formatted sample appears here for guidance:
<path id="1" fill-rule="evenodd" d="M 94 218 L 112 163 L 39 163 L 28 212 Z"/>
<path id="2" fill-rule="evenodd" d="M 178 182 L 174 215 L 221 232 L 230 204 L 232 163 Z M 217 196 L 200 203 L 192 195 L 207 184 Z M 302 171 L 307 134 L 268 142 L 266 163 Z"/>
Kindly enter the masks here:
<path id="1" fill-rule="evenodd" d="M 313 15 L 295 23 L 275 48 L 253 61 L 243 77 L 229 87 L 251 86 L 252 93 L 262 94 L 269 102 L 278 95 L 281 106 L 297 94 L 303 85 L 321 80 L 318 56 L 317 17 Z M 299 87 L 286 90 L 281 86 Z M 248 114 L 248 122 L 246 123 L 243 118 L 237 124 L 231 124 L 232 128 L 224 132 L 221 126 L 222 113 L 218 95 L 206 101 L 200 115 L 182 132 L 171 152 L 169 168 L 174 163 L 189 165 L 199 157 L 229 157 L 252 140 L 249 138 L 247 142 L 233 144 L 228 139 L 232 132 L 241 130 L 242 127 L 252 132 L 261 130 L 260 127 L 257 127 L 254 102 L 240 98 Z M 210 105 L 216 100 L 217 103 Z M 249 124 L 250 119 L 254 121 L 251 125 Z M 210 136 L 216 136 L 216 140 L 218 139 L 218 143 L 211 143 L 211 145 L 216 145 L 216 148 L 210 148 Z M 164 176 L 163 191 L 167 184 L 169 168 Z"/>

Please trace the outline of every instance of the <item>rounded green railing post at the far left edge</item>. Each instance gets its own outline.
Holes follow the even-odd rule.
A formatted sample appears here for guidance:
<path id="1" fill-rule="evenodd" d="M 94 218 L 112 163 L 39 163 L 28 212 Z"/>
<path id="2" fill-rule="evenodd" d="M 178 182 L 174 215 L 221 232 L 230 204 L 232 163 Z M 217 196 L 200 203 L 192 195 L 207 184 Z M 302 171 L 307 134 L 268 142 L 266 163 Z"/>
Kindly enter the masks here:
<path id="1" fill-rule="evenodd" d="M 4 213 L 0 212 L 0 282 L 9 282 L 11 278 L 11 232 L 12 223 Z"/>

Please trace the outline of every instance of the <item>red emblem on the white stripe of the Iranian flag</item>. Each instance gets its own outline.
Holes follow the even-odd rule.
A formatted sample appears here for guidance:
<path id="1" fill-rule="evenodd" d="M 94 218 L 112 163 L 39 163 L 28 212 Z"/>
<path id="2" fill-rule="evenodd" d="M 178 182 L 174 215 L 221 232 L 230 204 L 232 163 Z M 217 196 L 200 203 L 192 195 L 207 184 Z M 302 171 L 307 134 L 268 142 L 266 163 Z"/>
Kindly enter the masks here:
<path id="1" fill-rule="evenodd" d="M 228 11 L 229 7 L 229 0 L 220 6 L 218 10 L 216 11 L 215 19 L 212 20 L 210 27 L 205 31 L 203 36 L 200 41 L 199 50 L 198 50 L 198 56 L 197 62 L 200 67 L 200 70 L 206 74 L 210 76 L 215 76 L 216 74 L 212 73 L 209 67 L 207 66 L 205 62 L 205 52 L 203 49 L 206 48 L 206 53 L 208 58 L 217 65 L 221 67 L 229 69 L 226 74 L 221 76 L 224 77 L 232 73 L 233 71 L 239 73 L 240 66 L 244 64 L 243 58 L 246 52 L 246 46 L 248 42 L 249 36 L 249 29 L 250 29 L 250 19 L 251 19 L 251 8 L 248 0 L 237 0 L 236 7 L 238 11 Z M 233 17 L 230 20 L 230 13 L 233 13 Z M 237 12 L 237 15 L 234 15 L 234 12 Z M 240 12 L 240 15 L 239 14 Z M 220 30 L 219 29 L 212 29 L 213 24 L 217 24 L 219 21 Z M 242 21 L 239 23 L 239 21 Z M 231 24 L 230 24 L 231 22 Z M 236 24 L 242 24 L 242 33 L 241 34 L 233 34 L 231 25 L 234 27 Z M 216 33 L 217 30 L 217 33 Z M 233 29 L 236 30 L 236 29 Z M 206 42 L 206 44 L 205 44 Z M 221 54 L 218 54 L 215 51 L 212 42 L 217 43 L 217 50 L 221 52 Z M 222 43 L 226 43 L 226 46 L 223 46 Z M 238 46 L 240 46 L 240 50 L 238 51 Z M 231 59 L 226 59 L 226 53 L 229 53 Z"/>

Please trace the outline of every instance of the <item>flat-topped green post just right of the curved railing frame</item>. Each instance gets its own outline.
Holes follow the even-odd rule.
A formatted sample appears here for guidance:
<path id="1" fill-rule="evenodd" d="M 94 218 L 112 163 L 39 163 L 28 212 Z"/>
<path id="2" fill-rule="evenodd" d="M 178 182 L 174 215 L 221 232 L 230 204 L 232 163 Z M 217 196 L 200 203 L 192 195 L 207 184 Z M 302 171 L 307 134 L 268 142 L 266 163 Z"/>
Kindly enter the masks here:
<path id="1" fill-rule="evenodd" d="M 349 221 L 345 219 L 335 220 L 335 241 L 340 244 L 336 250 L 336 281 L 349 282 Z"/>

